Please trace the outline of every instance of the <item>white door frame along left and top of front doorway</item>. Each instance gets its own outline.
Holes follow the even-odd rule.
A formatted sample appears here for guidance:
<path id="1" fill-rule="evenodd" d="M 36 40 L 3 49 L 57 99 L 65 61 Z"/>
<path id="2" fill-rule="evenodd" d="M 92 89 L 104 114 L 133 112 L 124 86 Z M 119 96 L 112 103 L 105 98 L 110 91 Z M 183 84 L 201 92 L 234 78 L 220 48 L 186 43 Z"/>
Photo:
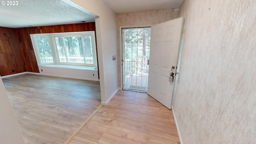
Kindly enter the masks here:
<path id="1" fill-rule="evenodd" d="M 143 27 L 152 27 L 154 24 L 146 24 L 146 25 L 135 25 L 135 26 L 119 26 L 119 43 L 120 43 L 120 84 L 121 87 L 119 90 L 123 89 L 123 66 L 122 66 L 122 58 L 123 58 L 123 46 L 122 46 L 122 28 L 143 28 Z"/>

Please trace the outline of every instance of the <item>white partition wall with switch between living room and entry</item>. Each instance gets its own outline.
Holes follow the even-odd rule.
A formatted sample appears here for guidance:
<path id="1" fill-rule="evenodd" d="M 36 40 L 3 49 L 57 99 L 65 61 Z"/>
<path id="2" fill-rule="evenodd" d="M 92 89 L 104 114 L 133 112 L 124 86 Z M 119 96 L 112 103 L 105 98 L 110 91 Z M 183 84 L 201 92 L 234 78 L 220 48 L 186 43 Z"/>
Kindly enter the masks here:
<path id="1" fill-rule="evenodd" d="M 71 0 L 99 16 L 95 20 L 100 91 L 102 104 L 106 104 L 118 90 L 118 65 L 112 56 L 117 55 L 116 14 L 101 0 Z"/>

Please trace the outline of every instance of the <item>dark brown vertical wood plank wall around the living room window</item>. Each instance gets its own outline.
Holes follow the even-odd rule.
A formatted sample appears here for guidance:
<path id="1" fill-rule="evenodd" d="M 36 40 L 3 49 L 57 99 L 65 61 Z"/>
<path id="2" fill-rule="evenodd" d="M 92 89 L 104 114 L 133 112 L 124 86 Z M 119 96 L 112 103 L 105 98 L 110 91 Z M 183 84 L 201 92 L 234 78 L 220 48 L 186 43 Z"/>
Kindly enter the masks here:
<path id="1" fill-rule="evenodd" d="M 95 22 L 29 28 L 0 27 L 0 75 L 20 72 L 39 73 L 30 34 L 95 30 Z"/>

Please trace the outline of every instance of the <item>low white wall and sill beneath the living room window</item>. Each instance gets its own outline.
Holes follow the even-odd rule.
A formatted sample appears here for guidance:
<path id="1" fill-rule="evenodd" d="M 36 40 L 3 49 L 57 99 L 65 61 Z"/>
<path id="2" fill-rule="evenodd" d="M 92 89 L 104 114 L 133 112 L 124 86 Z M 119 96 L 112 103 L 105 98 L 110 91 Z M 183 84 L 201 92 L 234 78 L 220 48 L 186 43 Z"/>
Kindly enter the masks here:
<path id="1" fill-rule="evenodd" d="M 76 66 L 72 66 L 76 67 Z M 78 66 L 79 67 L 79 66 Z M 81 68 L 61 68 L 61 67 L 49 67 L 38 66 L 40 74 L 46 76 L 58 76 L 64 78 L 76 78 L 81 80 L 93 80 L 98 81 L 98 70 L 84 70 Z"/>

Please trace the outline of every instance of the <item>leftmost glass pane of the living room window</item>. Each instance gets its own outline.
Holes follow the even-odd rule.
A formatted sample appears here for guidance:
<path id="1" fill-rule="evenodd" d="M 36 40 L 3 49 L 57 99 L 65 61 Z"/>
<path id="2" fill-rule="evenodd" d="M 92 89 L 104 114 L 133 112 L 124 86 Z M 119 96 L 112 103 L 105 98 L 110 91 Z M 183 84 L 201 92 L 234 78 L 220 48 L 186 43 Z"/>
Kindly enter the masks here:
<path id="1" fill-rule="evenodd" d="M 48 36 L 36 36 L 36 45 L 41 64 L 53 63 L 52 50 Z"/>

